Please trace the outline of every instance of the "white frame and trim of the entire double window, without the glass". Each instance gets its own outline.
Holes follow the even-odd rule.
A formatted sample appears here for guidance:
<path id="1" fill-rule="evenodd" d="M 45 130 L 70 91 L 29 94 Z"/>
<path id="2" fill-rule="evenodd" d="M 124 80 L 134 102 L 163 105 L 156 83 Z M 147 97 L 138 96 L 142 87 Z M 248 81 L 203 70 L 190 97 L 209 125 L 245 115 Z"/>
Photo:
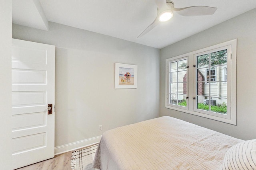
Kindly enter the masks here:
<path id="1" fill-rule="evenodd" d="M 227 60 L 230 60 L 230 62 L 227 63 L 227 115 L 219 114 L 219 113 L 214 113 L 214 114 L 209 114 L 207 112 L 204 112 L 202 110 L 198 111 L 196 109 L 196 100 L 193 98 L 196 97 L 196 68 L 194 65 L 196 65 L 196 61 L 194 60 L 194 55 L 198 55 L 200 53 L 204 53 L 206 51 L 214 51 L 218 49 L 223 49 L 223 47 L 230 47 L 230 56 L 227 56 Z M 229 123 L 232 125 L 236 125 L 236 48 L 237 48 L 237 39 L 227 41 L 224 43 L 220 43 L 217 45 L 213 45 L 211 47 L 206 47 L 204 49 L 196 50 L 190 53 L 186 53 L 184 55 L 180 55 L 177 57 L 172 57 L 170 59 L 166 59 L 166 98 L 165 98 L 165 107 L 169 109 L 174 109 L 177 111 L 182 111 L 185 113 L 190 113 L 193 115 L 198 115 L 201 117 L 206 117 L 208 119 L 213 119 L 216 121 L 221 121 L 225 123 Z M 187 62 L 189 68 L 187 69 L 187 107 L 174 107 L 170 104 L 168 104 L 168 76 L 169 76 L 169 71 L 168 71 L 168 63 L 170 61 L 174 60 L 180 60 L 182 57 L 188 57 Z"/>

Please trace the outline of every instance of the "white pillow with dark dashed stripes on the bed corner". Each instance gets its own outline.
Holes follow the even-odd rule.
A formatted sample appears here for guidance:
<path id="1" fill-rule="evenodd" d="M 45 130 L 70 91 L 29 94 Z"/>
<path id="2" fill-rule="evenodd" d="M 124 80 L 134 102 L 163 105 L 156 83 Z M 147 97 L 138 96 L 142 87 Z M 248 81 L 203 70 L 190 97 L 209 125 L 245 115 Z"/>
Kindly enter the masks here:
<path id="1" fill-rule="evenodd" d="M 231 147 L 226 152 L 220 170 L 256 170 L 256 139 Z"/>

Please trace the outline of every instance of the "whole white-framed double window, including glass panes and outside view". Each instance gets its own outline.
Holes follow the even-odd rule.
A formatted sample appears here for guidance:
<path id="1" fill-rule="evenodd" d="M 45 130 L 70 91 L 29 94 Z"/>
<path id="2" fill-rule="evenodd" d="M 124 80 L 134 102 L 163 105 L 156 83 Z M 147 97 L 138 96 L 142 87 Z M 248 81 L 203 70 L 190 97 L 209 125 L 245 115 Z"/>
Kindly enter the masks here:
<path id="1" fill-rule="evenodd" d="M 166 95 L 166 108 L 236 125 L 236 39 L 166 59 Z"/>

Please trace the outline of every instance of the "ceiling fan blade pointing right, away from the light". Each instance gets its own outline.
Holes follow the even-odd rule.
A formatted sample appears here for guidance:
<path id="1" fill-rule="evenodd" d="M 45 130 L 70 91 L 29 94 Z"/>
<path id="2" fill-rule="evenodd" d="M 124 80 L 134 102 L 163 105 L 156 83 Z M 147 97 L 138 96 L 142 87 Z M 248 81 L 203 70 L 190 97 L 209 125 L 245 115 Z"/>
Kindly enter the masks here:
<path id="1" fill-rule="evenodd" d="M 186 8 L 174 8 L 173 10 L 182 16 L 207 16 L 214 14 L 217 8 L 209 6 L 190 6 Z"/>

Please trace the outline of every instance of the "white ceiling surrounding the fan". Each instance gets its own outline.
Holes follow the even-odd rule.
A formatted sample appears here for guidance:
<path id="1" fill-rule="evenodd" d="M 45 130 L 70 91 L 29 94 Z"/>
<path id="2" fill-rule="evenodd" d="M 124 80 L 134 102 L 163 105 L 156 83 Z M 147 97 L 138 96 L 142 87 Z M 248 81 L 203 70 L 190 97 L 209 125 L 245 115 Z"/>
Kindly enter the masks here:
<path id="1" fill-rule="evenodd" d="M 256 0 L 172 1 L 175 8 L 218 9 L 212 16 L 174 13 L 172 20 L 140 38 L 138 35 L 156 18 L 154 0 L 13 0 L 13 23 L 48 30 L 48 20 L 161 49 L 256 8 Z"/>

